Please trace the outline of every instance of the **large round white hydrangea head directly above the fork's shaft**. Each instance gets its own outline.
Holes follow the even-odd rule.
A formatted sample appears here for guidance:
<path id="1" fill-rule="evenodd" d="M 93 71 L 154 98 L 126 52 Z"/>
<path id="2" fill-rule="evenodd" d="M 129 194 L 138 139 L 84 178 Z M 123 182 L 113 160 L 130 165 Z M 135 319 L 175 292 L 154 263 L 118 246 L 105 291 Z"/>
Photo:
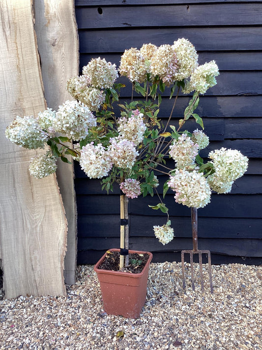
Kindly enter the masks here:
<path id="1" fill-rule="evenodd" d="M 175 191 L 175 201 L 187 207 L 204 208 L 210 202 L 211 190 L 203 176 L 196 170 L 176 170 L 168 186 Z"/>

